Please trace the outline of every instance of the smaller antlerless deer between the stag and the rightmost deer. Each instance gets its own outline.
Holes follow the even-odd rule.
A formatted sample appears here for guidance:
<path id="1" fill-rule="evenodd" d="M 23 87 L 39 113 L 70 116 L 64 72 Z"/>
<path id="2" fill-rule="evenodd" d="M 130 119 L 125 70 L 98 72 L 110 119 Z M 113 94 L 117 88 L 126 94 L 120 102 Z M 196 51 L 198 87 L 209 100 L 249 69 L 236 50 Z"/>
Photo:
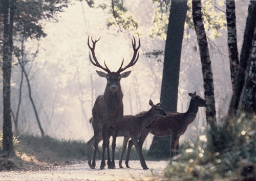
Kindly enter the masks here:
<path id="1" fill-rule="evenodd" d="M 141 130 L 148 126 L 154 118 L 157 116 L 165 116 L 166 113 L 161 109 L 159 104 L 154 105 L 152 100 L 150 100 L 150 106 L 151 109 L 145 112 L 142 116 L 132 116 L 132 115 L 125 115 L 123 116 L 123 119 L 119 121 L 118 123 L 118 137 L 124 137 L 124 140 L 126 141 L 126 144 L 130 138 L 134 141 L 136 151 L 140 158 L 140 164 L 143 169 L 148 169 L 145 163 L 145 159 L 143 157 L 142 151 L 139 149 L 138 145 L 138 139 L 141 133 Z M 90 119 L 90 122 L 93 122 L 93 118 Z M 100 138 L 100 141 L 102 140 L 102 137 Z M 88 151 L 90 151 L 90 147 L 95 142 L 95 137 L 87 142 L 87 148 Z M 124 149 L 125 150 L 125 149 Z M 123 157 L 124 150 L 122 151 L 121 157 Z M 90 153 L 88 153 L 90 154 Z M 89 162 L 88 162 L 89 163 Z M 122 168 L 122 166 L 119 163 L 119 167 Z"/>

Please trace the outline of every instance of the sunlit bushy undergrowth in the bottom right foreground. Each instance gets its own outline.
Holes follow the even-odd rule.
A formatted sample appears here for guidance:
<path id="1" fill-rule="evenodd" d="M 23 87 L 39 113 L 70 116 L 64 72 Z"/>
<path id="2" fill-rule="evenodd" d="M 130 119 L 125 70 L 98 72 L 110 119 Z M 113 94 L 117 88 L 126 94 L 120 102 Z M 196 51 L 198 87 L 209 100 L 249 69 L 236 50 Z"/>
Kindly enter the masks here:
<path id="1" fill-rule="evenodd" d="M 173 180 L 212 180 L 236 175 L 243 160 L 256 163 L 255 130 L 255 117 L 222 120 L 218 131 L 210 130 L 193 142 L 185 142 L 177 162 L 165 169 L 164 176 Z"/>

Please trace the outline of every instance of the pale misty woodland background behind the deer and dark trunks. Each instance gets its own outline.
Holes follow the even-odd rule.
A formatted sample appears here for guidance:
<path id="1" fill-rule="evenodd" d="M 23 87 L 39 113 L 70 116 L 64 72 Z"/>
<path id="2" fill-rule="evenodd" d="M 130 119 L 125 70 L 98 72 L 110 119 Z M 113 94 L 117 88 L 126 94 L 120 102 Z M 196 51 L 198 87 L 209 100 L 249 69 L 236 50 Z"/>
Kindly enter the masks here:
<path id="1" fill-rule="evenodd" d="M 49 9 L 42 12 L 42 18 L 36 21 L 42 27 L 41 30 L 36 29 L 34 31 L 37 33 L 33 34 L 35 27 L 30 27 L 31 35 L 20 36 L 19 31 L 13 35 L 13 131 L 16 134 L 41 135 L 43 130 L 45 135 L 58 139 L 86 142 L 93 136 L 89 119 L 92 117 L 94 101 L 98 95 L 103 94 L 106 84 L 105 79 L 96 74 L 97 68 L 89 61 L 88 36 L 100 37 L 95 49 L 97 59 L 100 64 L 105 60 L 113 71 L 118 69 L 122 58 L 124 64 L 131 60 L 131 38 L 133 35 L 136 39 L 140 37 L 139 60 L 131 68 L 131 75 L 121 81 L 124 115 L 148 110 L 149 99 L 154 102 L 160 100 L 170 1 L 115 1 L 116 12 L 123 19 L 119 23 L 111 11 L 111 1 L 56 2 L 59 4 L 53 6 L 59 9 L 51 9 L 49 6 Z M 243 44 L 248 5 L 249 1 L 236 1 L 236 7 L 239 7 L 236 8 L 239 53 Z M 217 120 L 220 120 L 227 114 L 232 97 L 226 5 L 225 1 L 202 1 L 202 7 L 214 80 Z M 20 20 L 26 19 L 23 16 L 28 14 L 29 18 L 33 18 L 36 10 L 32 10 L 34 14 L 28 13 L 31 10 L 28 6 L 19 12 Z M 196 91 L 197 95 L 204 97 L 199 47 L 192 24 L 191 1 L 188 1 L 180 67 L 177 67 L 180 69 L 178 112 L 188 109 L 189 92 Z M 2 96 L 0 102 L 3 102 Z M 3 104 L 0 110 L 3 110 Z M 200 108 L 196 120 L 189 125 L 181 140 L 202 133 L 206 126 L 205 117 L 205 108 Z M 0 121 L 0 126 L 3 127 L 3 121 Z M 149 135 L 143 147 L 149 148 L 152 139 L 153 136 Z M 121 142 L 122 138 L 118 138 L 117 144 Z"/>

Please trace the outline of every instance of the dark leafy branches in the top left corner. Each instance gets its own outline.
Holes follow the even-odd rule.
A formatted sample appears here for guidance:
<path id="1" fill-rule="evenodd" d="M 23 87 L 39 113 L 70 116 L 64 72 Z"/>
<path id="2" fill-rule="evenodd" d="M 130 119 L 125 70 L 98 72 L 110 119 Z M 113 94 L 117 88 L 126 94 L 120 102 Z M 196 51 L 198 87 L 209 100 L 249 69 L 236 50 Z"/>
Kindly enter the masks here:
<path id="1" fill-rule="evenodd" d="M 69 0 L 16 1 L 14 13 L 14 36 L 22 34 L 26 38 L 45 37 L 41 19 L 57 20 L 55 15 L 68 7 Z"/>

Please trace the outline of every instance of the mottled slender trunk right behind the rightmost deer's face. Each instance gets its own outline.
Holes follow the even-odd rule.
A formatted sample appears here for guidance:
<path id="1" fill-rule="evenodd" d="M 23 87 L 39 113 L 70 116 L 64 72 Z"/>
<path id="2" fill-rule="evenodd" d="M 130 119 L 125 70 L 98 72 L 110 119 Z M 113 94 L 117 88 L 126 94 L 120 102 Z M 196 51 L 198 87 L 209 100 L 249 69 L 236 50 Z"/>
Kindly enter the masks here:
<path id="1" fill-rule="evenodd" d="M 214 97 L 214 80 L 212 78 L 211 62 L 209 56 L 209 49 L 206 39 L 206 33 L 204 30 L 204 24 L 202 19 L 202 5 L 201 1 L 192 1 L 192 15 L 194 26 L 196 30 L 200 58 L 203 71 L 204 80 L 204 96 L 206 100 L 206 121 L 211 128 L 216 128 L 216 109 L 215 109 L 215 97 Z"/>

